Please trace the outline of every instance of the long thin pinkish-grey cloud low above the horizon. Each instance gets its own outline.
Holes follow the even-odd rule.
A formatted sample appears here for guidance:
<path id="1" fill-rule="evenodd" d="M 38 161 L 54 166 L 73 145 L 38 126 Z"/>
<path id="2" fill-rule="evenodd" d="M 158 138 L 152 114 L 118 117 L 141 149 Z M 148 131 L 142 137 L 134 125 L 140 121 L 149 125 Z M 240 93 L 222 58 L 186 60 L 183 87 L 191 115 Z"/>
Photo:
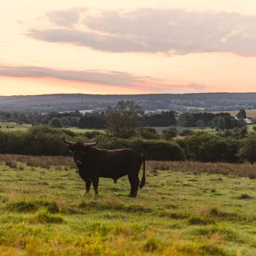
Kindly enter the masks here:
<path id="1" fill-rule="evenodd" d="M 172 85 L 151 77 L 140 77 L 126 72 L 101 70 L 63 70 L 47 67 L 7 67 L 0 66 L 0 77 L 10 78 L 56 78 L 59 80 L 81 83 L 97 83 L 102 86 L 116 86 L 117 88 L 140 89 L 152 93 L 173 93 L 188 91 L 207 91 L 205 86 L 195 83 L 188 85 Z"/>

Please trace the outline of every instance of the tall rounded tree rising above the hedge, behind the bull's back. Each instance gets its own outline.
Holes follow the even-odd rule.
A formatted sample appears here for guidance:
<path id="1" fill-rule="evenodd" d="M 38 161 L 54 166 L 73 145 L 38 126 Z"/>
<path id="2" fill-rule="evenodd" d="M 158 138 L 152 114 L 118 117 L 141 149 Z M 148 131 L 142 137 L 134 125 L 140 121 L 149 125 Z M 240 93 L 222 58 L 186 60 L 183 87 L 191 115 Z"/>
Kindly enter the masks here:
<path id="1" fill-rule="evenodd" d="M 108 132 L 116 137 L 129 138 L 140 127 L 143 111 L 135 102 L 127 100 L 118 102 L 116 107 L 108 107 L 106 113 Z"/>

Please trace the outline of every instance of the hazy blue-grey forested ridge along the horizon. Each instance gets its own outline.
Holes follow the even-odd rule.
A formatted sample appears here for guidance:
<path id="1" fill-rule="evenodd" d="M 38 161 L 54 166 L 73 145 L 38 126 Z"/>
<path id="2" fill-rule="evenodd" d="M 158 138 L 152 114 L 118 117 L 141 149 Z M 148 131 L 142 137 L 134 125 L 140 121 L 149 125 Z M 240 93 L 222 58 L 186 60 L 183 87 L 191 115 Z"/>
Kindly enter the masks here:
<path id="1" fill-rule="evenodd" d="M 255 109 L 256 93 L 206 93 L 206 94 L 138 94 L 90 95 L 50 94 L 39 96 L 0 97 L 1 111 L 25 113 L 66 112 L 94 110 L 101 112 L 120 100 L 133 100 L 143 110 L 173 110 L 181 112 L 229 111 Z"/>

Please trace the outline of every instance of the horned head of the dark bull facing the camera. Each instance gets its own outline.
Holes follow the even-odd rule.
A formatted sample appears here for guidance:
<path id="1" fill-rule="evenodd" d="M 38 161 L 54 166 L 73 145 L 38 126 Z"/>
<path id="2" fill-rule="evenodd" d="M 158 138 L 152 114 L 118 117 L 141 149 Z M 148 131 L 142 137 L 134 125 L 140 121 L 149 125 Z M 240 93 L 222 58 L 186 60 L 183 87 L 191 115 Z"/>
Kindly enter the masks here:
<path id="1" fill-rule="evenodd" d="M 98 141 L 94 143 L 75 143 L 69 140 L 66 140 L 64 138 L 64 142 L 67 143 L 69 151 L 72 154 L 72 157 L 74 158 L 74 161 L 77 165 L 82 164 L 82 160 L 86 154 L 86 151 L 91 148 L 91 146 L 97 145 Z"/>

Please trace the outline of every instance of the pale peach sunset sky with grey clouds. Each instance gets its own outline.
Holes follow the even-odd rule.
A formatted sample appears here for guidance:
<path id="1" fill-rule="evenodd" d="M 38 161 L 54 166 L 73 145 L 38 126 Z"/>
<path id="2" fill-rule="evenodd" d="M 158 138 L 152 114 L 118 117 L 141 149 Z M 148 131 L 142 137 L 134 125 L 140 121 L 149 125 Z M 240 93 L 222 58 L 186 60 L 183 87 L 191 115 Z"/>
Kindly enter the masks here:
<path id="1" fill-rule="evenodd" d="M 256 91 L 255 0 L 8 0 L 0 31 L 0 95 Z"/>

